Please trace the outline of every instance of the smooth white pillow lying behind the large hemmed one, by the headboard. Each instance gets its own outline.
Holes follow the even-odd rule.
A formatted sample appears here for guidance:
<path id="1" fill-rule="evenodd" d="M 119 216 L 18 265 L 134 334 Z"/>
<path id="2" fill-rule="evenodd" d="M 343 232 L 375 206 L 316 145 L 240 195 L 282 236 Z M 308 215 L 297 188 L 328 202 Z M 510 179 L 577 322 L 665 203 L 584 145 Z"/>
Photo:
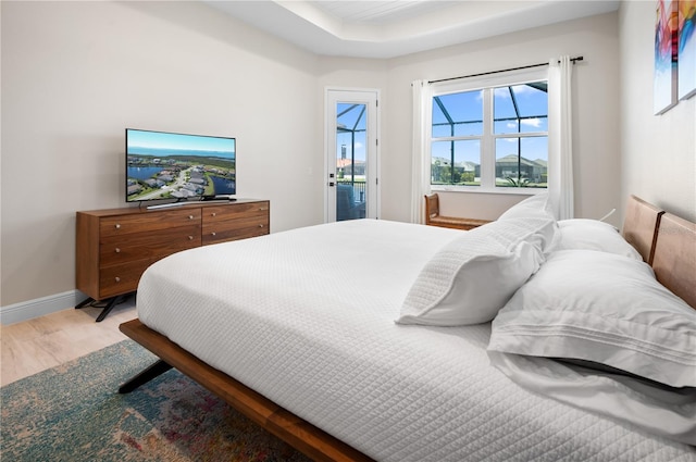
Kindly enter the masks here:
<path id="1" fill-rule="evenodd" d="M 586 218 L 560 220 L 558 227 L 559 239 L 554 250 L 599 250 L 643 261 L 619 229 L 608 223 Z"/>

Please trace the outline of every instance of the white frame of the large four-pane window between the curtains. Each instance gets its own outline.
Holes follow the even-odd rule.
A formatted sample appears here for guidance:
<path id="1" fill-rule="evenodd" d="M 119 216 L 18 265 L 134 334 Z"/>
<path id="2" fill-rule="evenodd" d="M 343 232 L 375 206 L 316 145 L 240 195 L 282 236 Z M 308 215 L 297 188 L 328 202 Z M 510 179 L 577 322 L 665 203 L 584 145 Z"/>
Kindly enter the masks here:
<path id="1" fill-rule="evenodd" d="M 536 68 L 506 72 L 482 77 L 472 77 L 461 80 L 449 80 L 432 84 L 432 92 L 430 95 L 430 104 L 427 105 L 427 114 L 425 121 L 425 141 L 427 146 L 428 158 L 428 183 L 433 191 L 460 191 L 460 192 L 483 192 L 483 193 L 504 193 L 504 195 L 535 195 L 548 191 L 546 188 L 524 188 L 524 187 L 500 187 L 496 186 L 496 149 L 497 139 L 501 138 L 531 138 L 546 136 L 548 139 L 548 129 L 546 132 L 525 132 L 513 134 L 495 134 L 494 133 L 494 88 L 507 87 L 514 85 L 523 85 L 533 82 L 548 82 L 548 66 Z M 481 136 L 453 136 L 453 137 L 436 137 L 433 138 L 433 101 L 435 97 L 459 93 L 464 91 L 483 90 L 483 134 Z M 551 125 L 550 114 L 547 111 L 547 127 Z M 433 140 L 436 141 L 458 141 L 458 140 L 481 140 L 481 185 L 434 185 L 432 183 L 432 162 L 433 162 Z"/>

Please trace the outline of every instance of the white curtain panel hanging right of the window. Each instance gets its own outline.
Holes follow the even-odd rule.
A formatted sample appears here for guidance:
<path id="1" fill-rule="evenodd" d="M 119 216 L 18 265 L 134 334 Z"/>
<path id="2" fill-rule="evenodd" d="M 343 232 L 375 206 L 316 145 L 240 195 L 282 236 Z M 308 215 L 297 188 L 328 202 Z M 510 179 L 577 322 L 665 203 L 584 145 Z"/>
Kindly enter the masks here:
<path id="1" fill-rule="evenodd" d="M 548 192 L 558 220 L 574 217 L 570 57 L 554 58 L 548 72 Z"/>

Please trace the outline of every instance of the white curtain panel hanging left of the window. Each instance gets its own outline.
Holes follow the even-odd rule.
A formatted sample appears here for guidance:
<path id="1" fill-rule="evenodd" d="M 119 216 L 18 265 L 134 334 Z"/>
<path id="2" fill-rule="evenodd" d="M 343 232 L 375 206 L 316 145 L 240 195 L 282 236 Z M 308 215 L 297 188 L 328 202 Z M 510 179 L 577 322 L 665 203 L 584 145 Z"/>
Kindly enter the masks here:
<path id="1" fill-rule="evenodd" d="M 411 149 L 411 223 L 425 223 L 425 199 L 431 192 L 430 149 L 427 146 L 432 90 L 427 80 L 414 80 L 413 146 Z"/>

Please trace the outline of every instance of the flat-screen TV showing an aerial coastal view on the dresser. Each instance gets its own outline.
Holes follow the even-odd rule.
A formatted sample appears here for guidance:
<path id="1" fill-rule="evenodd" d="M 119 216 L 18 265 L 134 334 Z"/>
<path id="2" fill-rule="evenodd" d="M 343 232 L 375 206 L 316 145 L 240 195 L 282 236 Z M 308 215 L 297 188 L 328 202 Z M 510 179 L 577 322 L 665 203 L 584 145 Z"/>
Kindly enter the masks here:
<path id="1" fill-rule="evenodd" d="M 237 192 L 236 139 L 126 128 L 126 202 Z"/>

